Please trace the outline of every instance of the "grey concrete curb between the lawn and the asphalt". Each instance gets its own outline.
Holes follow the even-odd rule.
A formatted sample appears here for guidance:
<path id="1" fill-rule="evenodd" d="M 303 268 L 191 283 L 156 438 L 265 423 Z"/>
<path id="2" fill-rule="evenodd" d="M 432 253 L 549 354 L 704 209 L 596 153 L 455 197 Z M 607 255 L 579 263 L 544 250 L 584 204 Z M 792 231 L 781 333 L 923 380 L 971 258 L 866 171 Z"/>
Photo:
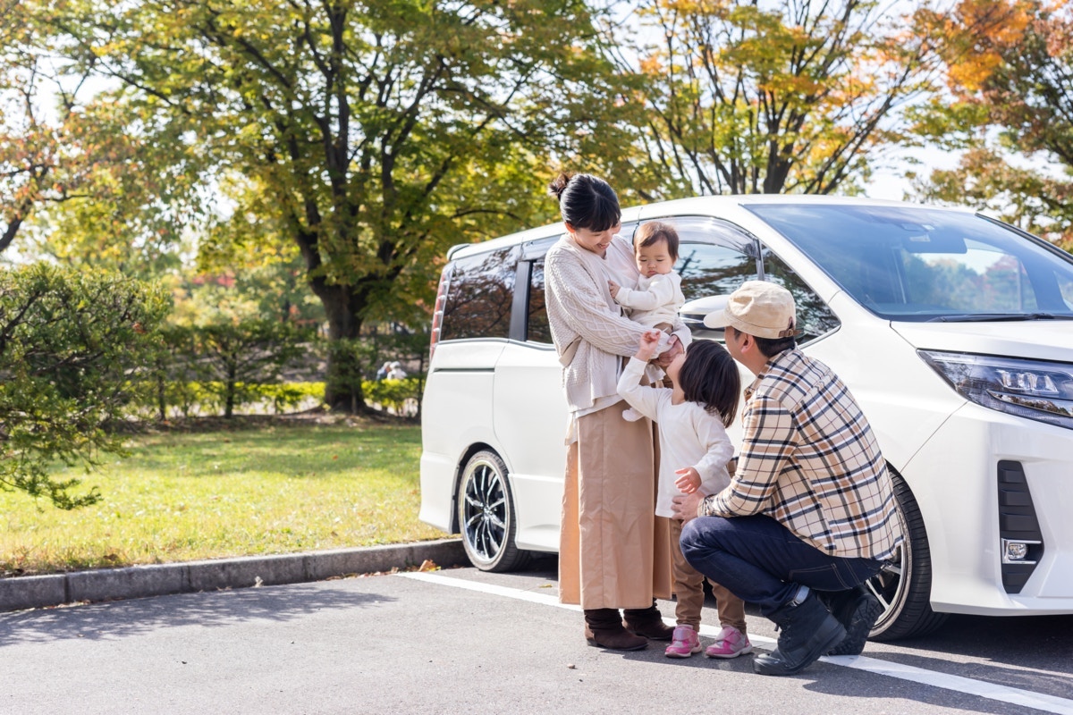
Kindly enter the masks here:
<path id="1" fill-rule="evenodd" d="M 461 539 L 273 556 L 244 556 L 0 579 L 0 612 L 80 601 L 323 581 L 334 576 L 468 564 Z"/>

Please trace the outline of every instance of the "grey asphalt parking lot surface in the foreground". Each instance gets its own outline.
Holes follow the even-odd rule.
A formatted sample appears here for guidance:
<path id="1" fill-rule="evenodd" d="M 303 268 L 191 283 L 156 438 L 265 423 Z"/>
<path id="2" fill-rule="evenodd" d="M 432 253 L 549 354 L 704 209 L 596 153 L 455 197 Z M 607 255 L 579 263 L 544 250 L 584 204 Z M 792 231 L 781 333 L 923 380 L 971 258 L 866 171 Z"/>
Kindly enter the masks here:
<path id="1" fill-rule="evenodd" d="M 1073 616 L 955 616 L 928 638 L 776 679 L 754 674 L 751 656 L 588 646 L 580 612 L 557 602 L 555 566 L 0 614 L 0 712 L 1073 715 Z M 774 646 L 770 622 L 750 613 L 749 628 L 758 650 Z"/>

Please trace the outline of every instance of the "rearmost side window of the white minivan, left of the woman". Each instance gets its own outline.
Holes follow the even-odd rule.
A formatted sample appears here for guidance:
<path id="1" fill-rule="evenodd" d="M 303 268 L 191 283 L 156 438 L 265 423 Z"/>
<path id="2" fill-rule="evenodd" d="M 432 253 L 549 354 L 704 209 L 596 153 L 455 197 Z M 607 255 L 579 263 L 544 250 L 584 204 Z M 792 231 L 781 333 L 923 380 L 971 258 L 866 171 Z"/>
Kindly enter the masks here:
<path id="1" fill-rule="evenodd" d="M 454 262 L 440 340 L 509 337 L 518 253 L 514 247 Z"/>

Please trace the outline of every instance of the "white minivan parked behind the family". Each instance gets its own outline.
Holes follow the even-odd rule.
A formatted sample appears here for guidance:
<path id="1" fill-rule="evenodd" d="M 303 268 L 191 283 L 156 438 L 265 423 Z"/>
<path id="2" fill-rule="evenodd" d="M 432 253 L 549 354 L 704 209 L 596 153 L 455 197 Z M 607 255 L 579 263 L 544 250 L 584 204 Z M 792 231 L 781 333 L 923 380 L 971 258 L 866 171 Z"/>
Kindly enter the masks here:
<path id="1" fill-rule="evenodd" d="M 650 220 L 678 230 L 694 339 L 721 340 L 703 317 L 744 281 L 776 282 L 797 301 L 802 349 L 868 416 L 907 535 L 869 582 L 885 607 L 872 638 L 949 613 L 1073 613 L 1073 256 L 898 202 L 690 198 L 624 210 L 622 235 Z M 461 533 L 482 569 L 558 550 L 567 406 L 543 259 L 561 233 L 457 245 L 440 279 L 420 517 Z"/>

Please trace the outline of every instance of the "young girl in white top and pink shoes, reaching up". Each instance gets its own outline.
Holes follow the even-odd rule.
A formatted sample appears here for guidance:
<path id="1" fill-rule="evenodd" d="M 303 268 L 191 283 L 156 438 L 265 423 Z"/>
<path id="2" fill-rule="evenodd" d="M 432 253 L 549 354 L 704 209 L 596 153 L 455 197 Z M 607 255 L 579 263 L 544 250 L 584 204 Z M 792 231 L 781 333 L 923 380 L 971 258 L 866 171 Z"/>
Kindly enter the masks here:
<path id="1" fill-rule="evenodd" d="M 741 382 L 730 353 L 719 343 L 701 340 L 690 344 L 684 355 L 667 366 L 674 387 L 642 386 L 642 374 L 656 354 L 661 334 L 649 331 L 642 336 L 636 355 L 618 381 L 618 393 L 638 413 L 659 423 L 656 515 L 671 518 L 678 622 L 665 654 L 670 658 L 688 658 L 701 651 L 697 630 L 704 605 L 704 577 L 681 554 L 678 538 L 682 522 L 673 518 L 671 500 L 679 490 L 690 493 L 703 489 L 715 494 L 730 483 L 726 465 L 734 448 L 726 427 L 734 421 Z M 711 582 L 711 586 L 722 630 L 704 654 L 710 658 L 734 658 L 752 653 L 746 636 L 745 601 L 717 583 Z"/>

